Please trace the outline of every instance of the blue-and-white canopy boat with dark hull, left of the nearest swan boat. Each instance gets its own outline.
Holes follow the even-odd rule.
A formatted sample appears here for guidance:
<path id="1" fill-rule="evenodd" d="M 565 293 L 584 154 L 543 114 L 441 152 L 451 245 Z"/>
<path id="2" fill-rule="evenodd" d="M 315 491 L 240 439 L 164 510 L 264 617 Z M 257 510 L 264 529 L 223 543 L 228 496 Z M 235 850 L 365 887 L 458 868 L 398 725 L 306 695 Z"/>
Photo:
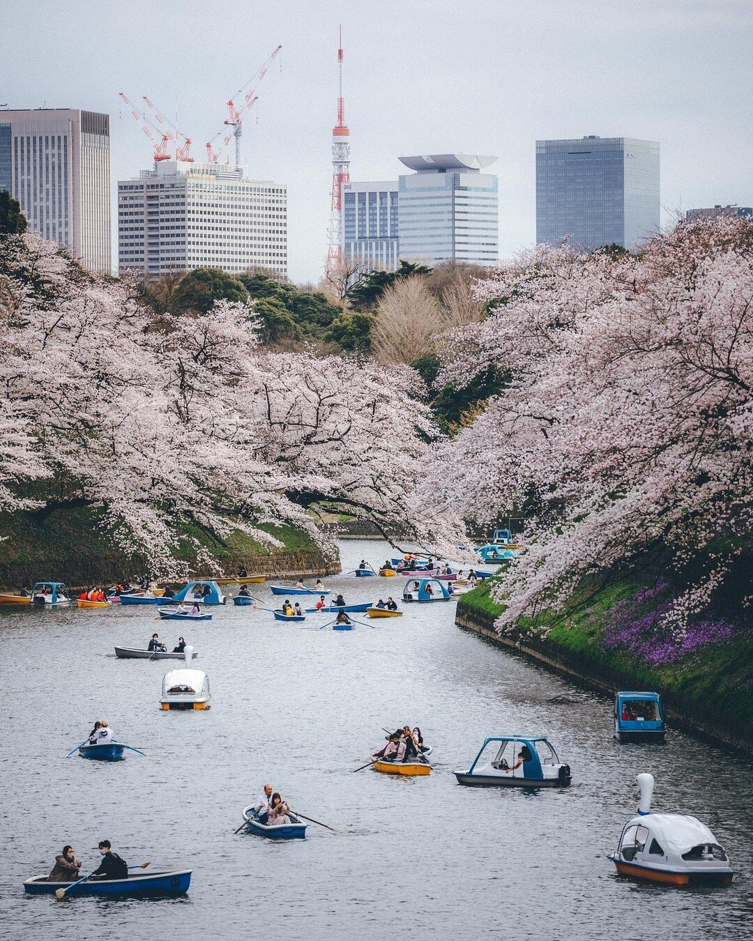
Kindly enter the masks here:
<path id="1" fill-rule="evenodd" d="M 566 788 L 569 765 L 560 764 L 547 739 L 521 735 L 484 740 L 468 771 L 455 773 L 458 784 L 479 788 Z"/>

